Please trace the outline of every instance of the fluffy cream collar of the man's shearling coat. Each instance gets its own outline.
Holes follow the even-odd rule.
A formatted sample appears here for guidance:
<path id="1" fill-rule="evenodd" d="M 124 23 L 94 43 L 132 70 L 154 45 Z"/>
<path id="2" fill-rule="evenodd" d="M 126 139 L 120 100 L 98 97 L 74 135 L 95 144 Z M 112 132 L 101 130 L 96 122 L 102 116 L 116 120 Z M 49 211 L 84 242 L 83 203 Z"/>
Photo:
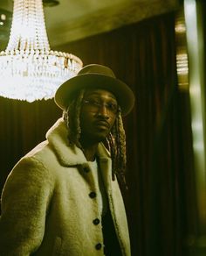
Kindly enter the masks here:
<path id="1" fill-rule="evenodd" d="M 46 133 L 46 139 L 54 149 L 58 160 L 64 166 L 75 166 L 86 164 L 87 160 L 82 150 L 77 146 L 70 146 L 68 141 L 68 129 L 65 125 L 63 118 L 59 118 L 58 121 L 51 127 Z M 97 152 L 100 161 L 108 161 L 110 159 L 110 153 L 106 150 L 106 147 L 102 143 L 98 146 Z"/>

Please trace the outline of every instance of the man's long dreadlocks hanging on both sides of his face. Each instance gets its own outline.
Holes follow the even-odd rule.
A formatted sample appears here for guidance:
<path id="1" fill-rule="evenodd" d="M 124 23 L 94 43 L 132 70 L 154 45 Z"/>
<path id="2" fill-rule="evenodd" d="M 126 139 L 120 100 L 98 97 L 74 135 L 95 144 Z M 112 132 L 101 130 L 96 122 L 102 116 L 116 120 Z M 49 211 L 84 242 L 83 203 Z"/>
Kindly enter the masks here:
<path id="1" fill-rule="evenodd" d="M 71 145 L 76 145 L 79 148 L 82 148 L 79 142 L 81 133 L 79 115 L 84 93 L 85 90 L 80 90 L 79 95 L 72 100 L 72 103 L 70 103 L 67 110 L 63 112 L 65 124 L 69 128 L 68 139 Z M 113 124 L 113 129 L 108 134 L 106 141 L 104 141 L 103 143 L 111 153 L 111 159 L 113 162 L 113 181 L 116 174 L 120 182 L 123 182 L 126 185 L 126 135 L 123 127 L 120 108 L 118 110 L 115 123 Z"/>

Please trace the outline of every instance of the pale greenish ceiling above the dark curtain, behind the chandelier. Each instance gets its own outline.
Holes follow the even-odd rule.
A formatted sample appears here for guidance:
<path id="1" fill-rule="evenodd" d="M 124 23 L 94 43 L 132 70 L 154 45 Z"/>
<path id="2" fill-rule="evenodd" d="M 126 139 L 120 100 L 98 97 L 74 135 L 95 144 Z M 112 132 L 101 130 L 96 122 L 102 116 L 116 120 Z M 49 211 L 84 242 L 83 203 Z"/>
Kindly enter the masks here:
<path id="1" fill-rule="evenodd" d="M 58 0 L 45 7 L 45 25 L 51 46 L 108 32 L 178 8 L 179 0 Z M 0 0 L 0 9 L 12 11 L 13 0 Z M 1 31 L 0 46 L 7 43 Z"/>

